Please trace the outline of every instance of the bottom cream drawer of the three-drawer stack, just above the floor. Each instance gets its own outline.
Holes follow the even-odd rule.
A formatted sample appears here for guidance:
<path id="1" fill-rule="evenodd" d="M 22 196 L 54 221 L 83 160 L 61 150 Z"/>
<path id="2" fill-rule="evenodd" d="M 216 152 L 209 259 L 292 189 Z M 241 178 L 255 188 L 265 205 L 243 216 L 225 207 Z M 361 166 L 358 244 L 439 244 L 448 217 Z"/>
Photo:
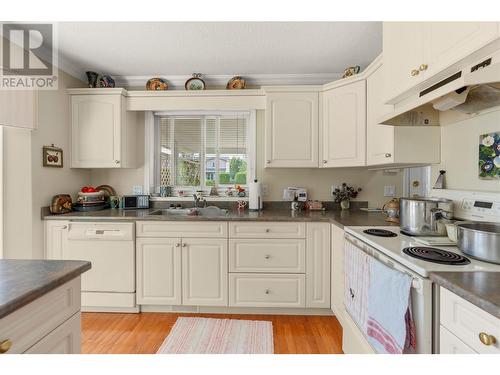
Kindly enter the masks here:
<path id="1" fill-rule="evenodd" d="M 229 274 L 229 306 L 305 307 L 305 275 Z"/>

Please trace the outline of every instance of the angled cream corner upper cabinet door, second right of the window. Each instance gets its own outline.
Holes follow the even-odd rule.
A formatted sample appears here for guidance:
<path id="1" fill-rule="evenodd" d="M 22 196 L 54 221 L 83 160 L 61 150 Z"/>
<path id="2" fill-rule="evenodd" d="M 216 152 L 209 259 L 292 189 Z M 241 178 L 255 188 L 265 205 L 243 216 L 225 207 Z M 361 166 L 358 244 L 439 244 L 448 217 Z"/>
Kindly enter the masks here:
<path id="1" fill-rule="evenodd" d="M 366 83 L 364 80 L 323 93 L 321 167 L 366 164 Z"/>

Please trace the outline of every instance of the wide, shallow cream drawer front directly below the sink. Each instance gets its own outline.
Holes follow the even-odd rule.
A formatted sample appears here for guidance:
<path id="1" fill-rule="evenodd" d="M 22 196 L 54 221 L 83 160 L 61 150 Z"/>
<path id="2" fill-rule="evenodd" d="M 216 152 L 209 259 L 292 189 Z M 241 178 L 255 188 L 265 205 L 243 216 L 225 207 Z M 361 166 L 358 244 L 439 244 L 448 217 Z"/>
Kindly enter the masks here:
<path id="1" fill-rule="evenodd" d="M 136 234 L 137 237 L 224 238 L 227 237 L 227 222 L 138 221 Z"/>

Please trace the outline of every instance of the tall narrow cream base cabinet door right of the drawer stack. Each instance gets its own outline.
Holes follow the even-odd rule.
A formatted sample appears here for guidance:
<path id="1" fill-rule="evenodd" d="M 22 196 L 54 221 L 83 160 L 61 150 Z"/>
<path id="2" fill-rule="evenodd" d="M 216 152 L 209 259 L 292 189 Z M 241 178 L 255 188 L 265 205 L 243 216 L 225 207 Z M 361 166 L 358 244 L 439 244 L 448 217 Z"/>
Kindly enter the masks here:
<path id="1" fill-rule="evenodd" d="M 306 307 L 330 307 L 330 224 L 307 223 Z"/>

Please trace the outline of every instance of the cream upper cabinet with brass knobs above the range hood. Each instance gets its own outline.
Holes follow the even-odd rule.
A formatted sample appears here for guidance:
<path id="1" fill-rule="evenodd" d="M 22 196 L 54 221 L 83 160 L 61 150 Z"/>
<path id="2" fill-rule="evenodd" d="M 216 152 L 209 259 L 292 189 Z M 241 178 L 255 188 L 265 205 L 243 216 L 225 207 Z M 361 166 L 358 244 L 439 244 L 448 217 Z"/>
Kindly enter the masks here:
<path id="1" fill-rule="evenodd" d="M 498 39 L 497 22 L 384 22 L 384 102 Z"/>

